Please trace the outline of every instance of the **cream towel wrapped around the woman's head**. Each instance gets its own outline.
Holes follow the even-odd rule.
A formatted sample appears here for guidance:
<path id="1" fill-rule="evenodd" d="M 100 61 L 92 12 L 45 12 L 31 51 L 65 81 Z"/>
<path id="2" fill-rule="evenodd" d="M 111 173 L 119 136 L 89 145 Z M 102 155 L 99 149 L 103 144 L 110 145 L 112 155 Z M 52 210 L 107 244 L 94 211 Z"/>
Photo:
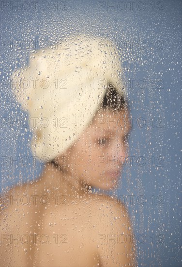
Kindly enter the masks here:
<path id="1" fill-rule="evenodd" d="M 71 36 L 64 49 L 37 50 L 28 67 L 13 72 L 13 93 L 29 112 L 31 150 L 42 161 L 62 154 L 89 126 L 108 83 L 124 94 L 119 54 L 107 43 Z"/>

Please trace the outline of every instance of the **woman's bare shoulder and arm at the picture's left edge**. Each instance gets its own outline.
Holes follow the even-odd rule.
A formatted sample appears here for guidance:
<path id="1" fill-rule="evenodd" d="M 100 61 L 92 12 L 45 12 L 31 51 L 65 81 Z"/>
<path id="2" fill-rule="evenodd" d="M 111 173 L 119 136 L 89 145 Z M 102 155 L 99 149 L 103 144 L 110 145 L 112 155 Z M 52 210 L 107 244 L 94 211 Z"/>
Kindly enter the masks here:
<path id="1" fill-rule="evenodd" d="M 24 242 L 24 236 L 30 238 L 30 233 L 37 233 L 37 210 L 30 195 L 35 184 L 25 183 L 15 185 L 1 194 L 0 211 L 0 266 L 32 266 L 32 245 Z M 28 236 L 28 237 L 27 237 Z M 31 249 L 31 250 L 30 250 Z M 26 254 L 25 251 L 28 251 Z M 11 257 L 10 257 L 11 255 Z"/>

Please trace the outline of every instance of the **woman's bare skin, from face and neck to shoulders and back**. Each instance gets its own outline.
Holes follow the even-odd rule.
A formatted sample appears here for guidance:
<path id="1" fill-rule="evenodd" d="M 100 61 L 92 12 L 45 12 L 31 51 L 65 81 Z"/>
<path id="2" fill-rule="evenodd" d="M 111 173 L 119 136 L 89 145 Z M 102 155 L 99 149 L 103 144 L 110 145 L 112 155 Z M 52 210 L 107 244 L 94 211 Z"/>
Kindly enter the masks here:
<path id="1" fill-rule="evenodd" d="M 99 122 L 101 118 L 106 122 L 107 118 L 118 121 L 123 116 L 127 121 L 127 111 L 100 110 L 88 129 L 64 153 L 64 161 L 63 155 L 57 157 L 59 168 L 47 164 L 40 179 L 9 190 L 4 202 L 6 208 L 0 215 L 1 236 L 4 234 L 0 266 L 136 266 L 127 209 L 116 198 L 109 201 L 102 193 L 118 186 L 121 164 L 114 165 L 111 160 L 114 156 L 127 157 L 125 136 L 130 126 L 126 123 L 121 129 L 117 124 L 108 126 Z M 102 159 L 100 165 L 98 158 Z M 113 170 L 119 171 L 118 174 L 106 173 Z M 94 194 L 93 187 L 100 188 L 100 193 Z M 34 197 L 25 205 L 27 199 L 23 200 L 23 195 Z M 42 198 L 43 195 L 46 197 Z M 10 202 L 10 196 L 21 201 Z M 19 244 L 10 239 L 10 234 L 14 237 L 19 234 Z M 121 234 L 125 235 L 125 242 Z"/>

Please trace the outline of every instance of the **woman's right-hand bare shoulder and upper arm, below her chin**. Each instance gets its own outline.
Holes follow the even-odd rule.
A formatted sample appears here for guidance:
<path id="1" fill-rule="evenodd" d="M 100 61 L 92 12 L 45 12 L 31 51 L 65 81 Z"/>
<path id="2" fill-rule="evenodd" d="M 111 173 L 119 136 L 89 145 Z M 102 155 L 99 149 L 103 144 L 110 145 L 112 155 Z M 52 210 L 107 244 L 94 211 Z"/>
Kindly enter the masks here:
<path id="1" fill-rule="evenodd" d="M 93 232 L 102 266 L 136 266 L 135 239 L 129 212 L 111 196 L 98 196 Z M 95 202 L 96 203 L 96 202 Z M 95 244 L 95 245 L 96 245 Z"/>

